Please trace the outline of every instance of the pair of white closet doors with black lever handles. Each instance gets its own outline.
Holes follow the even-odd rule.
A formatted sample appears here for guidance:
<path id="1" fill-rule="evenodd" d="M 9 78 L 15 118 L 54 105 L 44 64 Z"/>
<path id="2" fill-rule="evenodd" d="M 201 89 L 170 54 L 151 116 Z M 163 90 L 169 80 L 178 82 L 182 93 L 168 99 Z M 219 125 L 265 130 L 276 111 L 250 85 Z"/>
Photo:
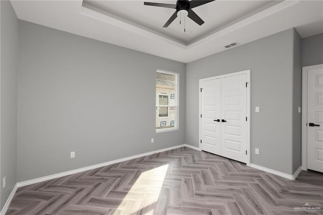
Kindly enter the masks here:
<path id="1" fill-rule="evenodd" d="M 247 74 L 200 80 L 201 150 L 247 163 Z"/>

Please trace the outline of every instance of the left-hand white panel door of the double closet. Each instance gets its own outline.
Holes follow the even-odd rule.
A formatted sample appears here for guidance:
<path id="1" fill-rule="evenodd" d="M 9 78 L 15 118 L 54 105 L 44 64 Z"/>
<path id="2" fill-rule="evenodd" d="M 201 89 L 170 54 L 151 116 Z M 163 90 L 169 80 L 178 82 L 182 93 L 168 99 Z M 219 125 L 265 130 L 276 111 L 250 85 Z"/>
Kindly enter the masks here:
<path id="1" fill-rule="evenodd" d="M 221 155 L 221 79 L 203 80 L 201 88 L 201 149 Z"/>

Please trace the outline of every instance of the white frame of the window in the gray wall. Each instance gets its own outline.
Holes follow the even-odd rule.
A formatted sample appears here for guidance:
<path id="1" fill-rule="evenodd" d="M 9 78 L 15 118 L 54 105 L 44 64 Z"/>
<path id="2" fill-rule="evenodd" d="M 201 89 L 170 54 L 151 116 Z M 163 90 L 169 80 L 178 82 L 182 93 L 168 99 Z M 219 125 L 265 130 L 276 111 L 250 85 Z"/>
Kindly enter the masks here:
<path id="1" fill-rule="evenodd" d="M 156 73 L 164 73 L 164 74 L 168 74 L 168 75 L 175 75 L 175 101 L 174 101 L 174 105 L 157 105 L 155 104 L 155 106 L 157 107 L 157 110 L 158 110 L 158 107 L 159 106 L 168 106 L 168 107 L 171 107 L 171 106 L 174 106 L 175 107 L 175 127 L 174 128 L 161 128 L 161 129 L 156 129 L 156 133 L 161 133 L 161 132 L 168 132 L 168 131 L 176 131 L 176 130 L 179 130 L 179 77 L 180 77 L 180 74 L 179 73 L 175 73 L 175 72 L 170 72 L 170 71 L 165 71 L 165 70 L 156 70 Z M 156 80 L 155 80 L 156 81 Z M 155 86 L 156 88 L 156 86 Z M 161 94 L 163 95 L 163 94 Z M 159 96 L 159 94 L 158 94 Z M 171 98 L 170 95 L 169 96 L 169 99 Z M 158 99 L 158 104 L 159 104 L 159 99 Z M 169 116 L 169 111 L 170 111 L 170 108 L 168 109 L 168 116 Z M 159 116 L 159 113 L 157 111 L 157 116 Z M 158 117 L 158 118 L 166 118 L 166 117 Z M 156 120 L 156 118 L 155 118 Z M 156 122 L 155 122 L 155 126 L 156 126 Z"/>

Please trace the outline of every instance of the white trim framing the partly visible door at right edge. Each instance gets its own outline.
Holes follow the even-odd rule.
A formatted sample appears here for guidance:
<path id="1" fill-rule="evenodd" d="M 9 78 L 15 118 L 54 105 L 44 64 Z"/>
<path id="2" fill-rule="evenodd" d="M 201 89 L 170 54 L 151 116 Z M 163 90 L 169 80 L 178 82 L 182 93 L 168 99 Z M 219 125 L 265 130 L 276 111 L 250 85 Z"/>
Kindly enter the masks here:
<path id="1" fill-rule="evenodd" d="M 309 69 L 322 68 L 323 64 L 302 69 L 302 170 L 307 171 L 307 74 Z"/>

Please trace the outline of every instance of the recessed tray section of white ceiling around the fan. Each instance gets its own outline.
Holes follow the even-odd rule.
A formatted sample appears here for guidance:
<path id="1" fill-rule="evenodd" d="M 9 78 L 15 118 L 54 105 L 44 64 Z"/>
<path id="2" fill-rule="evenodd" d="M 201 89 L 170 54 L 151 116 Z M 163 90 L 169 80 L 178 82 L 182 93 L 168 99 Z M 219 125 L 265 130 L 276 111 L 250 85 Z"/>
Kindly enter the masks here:
<path id="1" fill-rule="evenodd" d="M 147 0 L 147 2 L 176 4 L 176 1 Z M 186 18 L 186 32 L 184 32 L 184 23 L 182 22 L 180 25 L 179 17 L 168 28 L 163 28 L 175 9 L 144 6 L 143 1 L 83 1 L 83 7 L 92 6 L 125 22 L 137 24 L 142 28 L 158 32 L 160 35 L 165 35 L 183 44 L 190 44 L 272 2 L 217 0 L 199 6 L 194 8 L 193 11 L 205 23 L 199 26 L 191 19 Z"/>

